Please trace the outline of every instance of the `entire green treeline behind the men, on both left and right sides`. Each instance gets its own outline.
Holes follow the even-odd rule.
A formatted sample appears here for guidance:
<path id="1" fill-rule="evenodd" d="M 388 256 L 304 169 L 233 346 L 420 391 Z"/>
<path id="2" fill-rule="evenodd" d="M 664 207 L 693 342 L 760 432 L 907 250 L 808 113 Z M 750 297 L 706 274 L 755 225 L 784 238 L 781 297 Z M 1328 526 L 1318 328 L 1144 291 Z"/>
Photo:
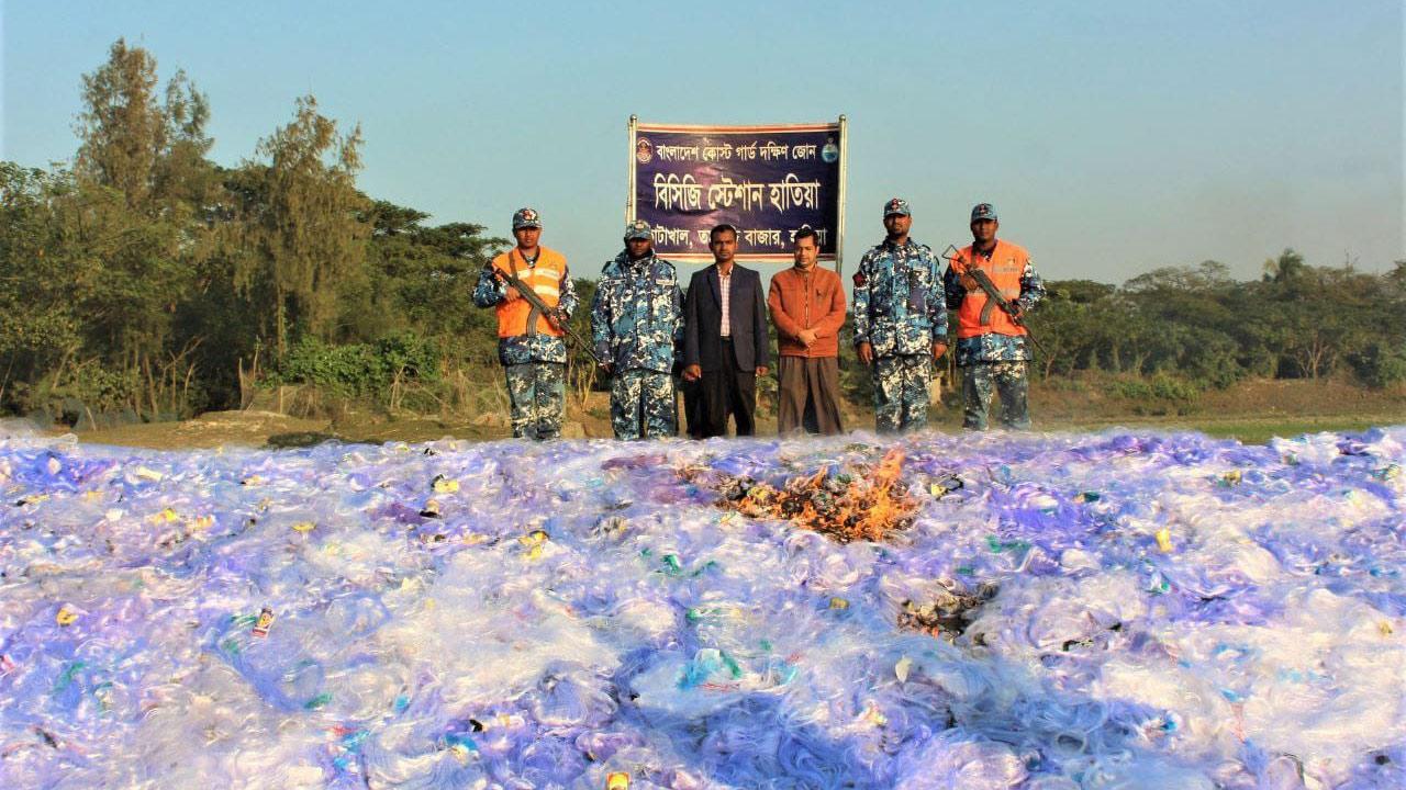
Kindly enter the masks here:
<path id="1" fill-rule="evenodd" d="M 506 242 L 360 193 L 359 128 L 309 96 L 221 167 L 205 96 L 180 72 L 159 89 L 149 52 L 115 42 L 82 91 L 72 163 L 0 163 L 0 412 L 186 416 L 280 384 L 392 410 L 494 406 L 494 319 L 468 295 Z M 1040 377 L 1406 381 L 1406 261 L 1367 274 L 1285 250 L 1249 283 L 1206 261 L 1049 285 L 1031 319 Z M 578 287 L 589 304 L 593 283 Z M 592 385 L 586 360 L 571 377 Z"/>

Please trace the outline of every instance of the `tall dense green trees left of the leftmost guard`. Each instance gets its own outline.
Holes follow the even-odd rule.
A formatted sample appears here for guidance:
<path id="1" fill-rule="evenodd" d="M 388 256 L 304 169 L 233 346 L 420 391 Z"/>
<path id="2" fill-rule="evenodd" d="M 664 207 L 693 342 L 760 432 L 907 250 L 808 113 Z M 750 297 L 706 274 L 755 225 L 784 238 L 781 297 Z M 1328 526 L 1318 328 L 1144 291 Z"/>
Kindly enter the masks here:
<path id="1" fill-rule="evenodd" d="M 145 49 L 117 41 L 82 89 L 72 163 L 0 163 L 0 410 L 150 419 L 281 382 L 475 396 L 492 315 L 467 297 L 502 239 L 359 191 L 360 129 L 311 96 L 222 167 L 207 97 L 160 87 Z"/>

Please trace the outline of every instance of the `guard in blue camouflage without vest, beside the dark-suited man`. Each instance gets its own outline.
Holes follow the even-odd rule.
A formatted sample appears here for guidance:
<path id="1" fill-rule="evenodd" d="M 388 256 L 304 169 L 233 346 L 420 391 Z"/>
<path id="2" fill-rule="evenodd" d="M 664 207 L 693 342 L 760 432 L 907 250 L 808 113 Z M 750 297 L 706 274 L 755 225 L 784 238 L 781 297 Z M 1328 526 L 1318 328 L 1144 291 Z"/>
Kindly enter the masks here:
<path id="1" fill-rule="evenodd" d="M 643 219 L 626 225 L 624 250 L 600 271 L 591 335 L 596 360 L 612 375 L 616 439 L 675 436 L 672 371 L 683 339 L 683 301 L 673 264 L 655 257 Z"/>

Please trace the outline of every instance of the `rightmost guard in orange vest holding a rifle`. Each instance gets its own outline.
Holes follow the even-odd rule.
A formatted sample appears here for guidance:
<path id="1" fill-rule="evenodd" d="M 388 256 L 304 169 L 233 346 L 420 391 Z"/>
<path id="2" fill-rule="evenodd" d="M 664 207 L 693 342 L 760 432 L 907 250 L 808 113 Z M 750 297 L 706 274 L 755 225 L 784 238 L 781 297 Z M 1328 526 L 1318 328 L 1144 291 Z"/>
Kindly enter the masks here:
<path id="1" fill-rule="evenodd" d="M 1001 425 L 1031 427 L 1025 313 L 1045 297 L 1025 247 L 997 239 L 1000 221 L 988 202 L 972 209 L 972 246 L 957 250 L 948 266 L 948 306 L 957 311 L 957 367 L 962 368 L 962 426 L 986 430 L 991 395 L 1001 399 Z M 1011 312 L 991 299 L 974 276 L 1001 295 Z"/>

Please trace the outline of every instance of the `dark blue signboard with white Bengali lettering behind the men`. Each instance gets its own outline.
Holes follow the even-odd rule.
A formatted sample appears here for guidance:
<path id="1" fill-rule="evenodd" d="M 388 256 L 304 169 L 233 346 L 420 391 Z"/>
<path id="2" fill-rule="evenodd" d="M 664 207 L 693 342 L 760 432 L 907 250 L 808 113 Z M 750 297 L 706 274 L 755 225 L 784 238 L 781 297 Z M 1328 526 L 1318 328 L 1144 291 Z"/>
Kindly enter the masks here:
<path id="1" fill-rule="evenodd" d="M 654 250 L 681 261 L 711 261 L 709 231 L 737 228 L 742 261 L 792 260 L 792 239 L 808 225 L 820 259 L 844 253 L 845 118 L 835 124 L 681 127 L 630 118 L 626 219 L 654 228 Z"/>

